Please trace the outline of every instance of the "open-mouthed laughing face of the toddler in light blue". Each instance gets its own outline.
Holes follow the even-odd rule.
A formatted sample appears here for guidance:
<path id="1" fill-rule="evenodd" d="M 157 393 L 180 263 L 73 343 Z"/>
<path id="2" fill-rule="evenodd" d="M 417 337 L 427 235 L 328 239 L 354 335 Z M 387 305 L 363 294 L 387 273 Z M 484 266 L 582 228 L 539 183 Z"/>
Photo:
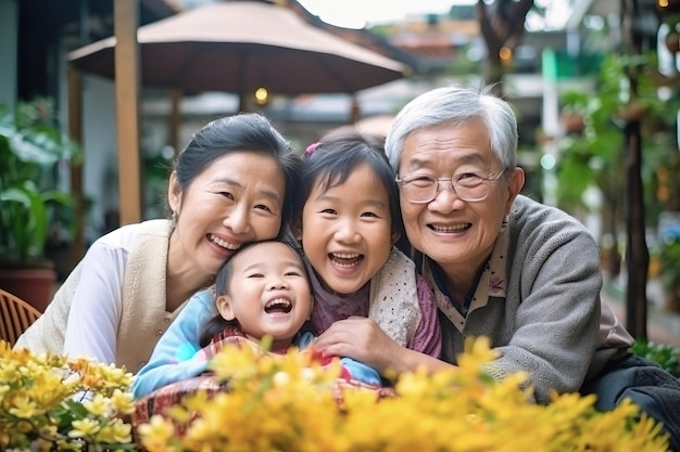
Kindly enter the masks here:
<path id="1" fill-rule="evenodd" d="M 259 243 L 237 254 L 227 295 L 217 298 L 226 320 L 237 320 L 252 339 L 265 335 L 274 349 L 288 347 L 310 318 L 312 290 L 300 255 L 280 242 Z"/>

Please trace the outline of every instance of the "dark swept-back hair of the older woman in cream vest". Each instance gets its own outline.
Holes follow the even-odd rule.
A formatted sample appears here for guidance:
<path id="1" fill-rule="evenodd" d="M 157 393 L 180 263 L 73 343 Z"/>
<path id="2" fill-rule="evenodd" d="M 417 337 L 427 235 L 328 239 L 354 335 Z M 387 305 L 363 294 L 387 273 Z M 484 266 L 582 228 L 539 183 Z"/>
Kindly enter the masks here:
<path id="1" fill-rule="evenodd" d="M 194 132 L 175 160 L 177 183 L 187 192 L 193 180 L 215 159 L 235 151 L 254 152 L 274 157 L 286 178 L 281 231 L 299 204 L 300 157 L 290 144 L 257 113 L 241 113 L 209 122 Z"/>

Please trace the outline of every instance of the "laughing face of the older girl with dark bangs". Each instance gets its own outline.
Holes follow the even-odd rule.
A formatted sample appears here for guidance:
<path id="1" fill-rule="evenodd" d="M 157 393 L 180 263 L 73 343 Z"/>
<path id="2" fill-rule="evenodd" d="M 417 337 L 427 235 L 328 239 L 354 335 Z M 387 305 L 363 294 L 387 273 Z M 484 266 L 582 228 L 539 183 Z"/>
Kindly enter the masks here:
<path id="1" fill-rule="evenodd" d="M 322 285 L 349 295 L 387 262 L 393 243 L 388 193 L 368 164 L 339 185 L 316 183 L 302 211 L 302 247 Z"/>

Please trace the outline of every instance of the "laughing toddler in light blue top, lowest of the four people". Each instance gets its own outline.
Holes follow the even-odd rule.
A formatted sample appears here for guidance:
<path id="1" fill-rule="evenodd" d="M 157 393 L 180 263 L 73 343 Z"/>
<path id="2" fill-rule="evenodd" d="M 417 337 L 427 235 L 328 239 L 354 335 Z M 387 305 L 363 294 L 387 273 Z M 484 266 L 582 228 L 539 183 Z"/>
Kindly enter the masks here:
<path id="1" fill-rule="evenodd" d="M 182 322 L 190 322 L 179 315 L 175 322 L 179 322 L 175 325 L 178 330 L 171 328 L 161 337 L 149 363 L 135 377 L 136 398 L 205 372 L 211 358 L 227 345 L 260 347 L 268 336 L 269 351 L 286 353 L 291 346 L 304 348 L 313 340 L 311 333 L 300 333 L 314 300 L 305 266 L 290 244 L 267 241 L 244 246 L 219 270 L 215 288 L 218 313 L 205 323 L 200 344 L 182 344 L 174 335 L 182 331 Z M 158 365 L 171 356 L 175 357 L 172 363 Z M 380 384 L 373 369 L 350 359 L 341 361 L 344 378 Z"/>

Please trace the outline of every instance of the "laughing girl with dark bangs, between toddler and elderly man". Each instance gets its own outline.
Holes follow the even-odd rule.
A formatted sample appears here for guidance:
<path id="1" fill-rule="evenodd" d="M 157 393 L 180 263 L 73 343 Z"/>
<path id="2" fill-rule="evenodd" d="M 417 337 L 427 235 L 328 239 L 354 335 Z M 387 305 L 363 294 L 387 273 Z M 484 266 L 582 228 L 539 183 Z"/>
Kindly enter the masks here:
<path id="1" fill-rule="evenodd" d="M 399 193 L 381 143 L 354 134 L 325 140 L 307 147 L 302 168 L 305 202 L 292 231 L 312 279 L 311 325 L 322 335 L 314 347 L 380 372 L 415 370 L 418 358 L 399 362 L 407 349 L 439 358 L 432 290 L 394 247 Z M 366 334 L 347 334 L 347 322 L 364 322 Z M 387 344 L 382 333 L 392 339 L 389 357 L 373 340 Z"/>

